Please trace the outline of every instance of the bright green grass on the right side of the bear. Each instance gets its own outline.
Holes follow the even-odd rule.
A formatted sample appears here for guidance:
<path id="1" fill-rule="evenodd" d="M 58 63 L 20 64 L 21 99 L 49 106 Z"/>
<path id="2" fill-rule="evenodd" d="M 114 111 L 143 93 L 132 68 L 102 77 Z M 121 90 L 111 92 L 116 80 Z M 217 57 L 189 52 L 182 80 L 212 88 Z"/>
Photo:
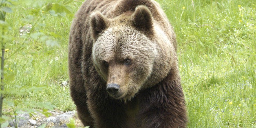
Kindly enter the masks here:
<path id="1" fill-rule="evenodd" d="M 188 127 L 256 127 L 256 2 L 159 2 L 179 42 Z"/>

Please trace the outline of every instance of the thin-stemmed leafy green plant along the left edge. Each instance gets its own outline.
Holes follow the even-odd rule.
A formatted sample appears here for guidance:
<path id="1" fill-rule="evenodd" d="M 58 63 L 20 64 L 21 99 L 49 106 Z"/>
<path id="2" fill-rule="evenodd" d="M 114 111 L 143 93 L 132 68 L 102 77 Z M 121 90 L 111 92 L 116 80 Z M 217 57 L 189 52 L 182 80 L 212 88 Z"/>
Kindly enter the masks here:
<path id="1" fill-rule="evenodd" d="M 1 124 L 6 121 L 6 117 L 2 117 L 2 110 L 3 110 L 3 103 L 4 103 L 4 95 L 26 95 L 27 93 L 31 92 L 40 92 L 42 89 L 46 88 L 45 86 L 32 86 L 27 87 L 25 89 L 20 89 L 20 86 L 16 85 L 17 90 L 4 90 L 5 79 L 4 76 L 6 71 L 4 70 L 4 61 L 11 58 L 13 55 L 15 55 L 20 49 L 24 47 L 24 44 L 27 42 L 31 42 L 33 40 L 39 41 L 39 42 L 45 42 L 49 46 L 57 45 L 57 42 L 54 40 L 54 37 L 56 37 L 55 33 L 49 33 L 48 31 L 45 31 L 42 29 L 42 22 L 47 17 L 44 13 L 49 13 L 52 16 L 56 17 L 65 17 L 66 14 L 70 15 L 71 11 L 67 7 L 67 4 L 73 2 L 73 0 L 64 0 L 62 3 L 56 3 L 56 2 L 50 2 L 45 3 L 44 0 L 37 0 L 34 2 L 34 7 L 31 7 L 29 9 L 24 9 L 24 13 L 22 13 L 23 16 L 23 23 L 22 28 L 20 29 L 20 38 L 22 38 L 22 43 L 18 45 L 17 49 L 15 49 L 11 54 L 8 56 L 5 55 L 5 52 L 9 51 L 9 49 L 6 49 L 7 43 L 13 42 L 13 37 L 10 36 L 11 34 L 8 34 L 8 30 L 12 29 L 10 24 L 6 21 L 6 18 L 9 16 L 9 13 L 12 13 L 12 7 L 19 7 L 20 2 L 27 2 L 30 3 L 29 0 L 1 0 L 0 3 L 0 41 L 1 41 L 1 90 L 0 90 L 0 128 L 2 127 Z M 45 5 L 43 5 L 44 3 Z M 15 19 L 13 19 L 15 20 Z M 8 71 L 12 70 L 9 68 Z M 15 73 L 10 73 L 11 75 L 7 75 L 7 81 L 11 80 L 10 78 L 15 77 Z M 18 90 L 19 89 L 19 90 Z M 18 120 L 17 120 L 17 111 L 25 110 L 28 112 L 33 113 L 33 110 L 29 109 L 20 109 L 18 105 L 19 102 L 16 102 L 13 99 L 6 99 L 7 105 L 9 108 L 11 108 L 11 112 L 5 113 L 6 115 L 9 115 L 11 119 L 13 120 L 13 124 L 15 125 L 15 128 L 18 127 Z M 51 103 L 40 103 L 35 102 L 34 104 L 29 103 L 23 103 L 27 106 L 30 106 L 32 108 L 40 108 L 43 109 L 43 111 L 40 111 L 42 114 L 44 114 L 46 117 L 50 116 L 51 113 L 48 113 L 47 110 L 52 110 L 55 108 Z M 14 116 L 14 118 L 13 118 Z M 6 124 L 5 124 L 6 125 Z"/>

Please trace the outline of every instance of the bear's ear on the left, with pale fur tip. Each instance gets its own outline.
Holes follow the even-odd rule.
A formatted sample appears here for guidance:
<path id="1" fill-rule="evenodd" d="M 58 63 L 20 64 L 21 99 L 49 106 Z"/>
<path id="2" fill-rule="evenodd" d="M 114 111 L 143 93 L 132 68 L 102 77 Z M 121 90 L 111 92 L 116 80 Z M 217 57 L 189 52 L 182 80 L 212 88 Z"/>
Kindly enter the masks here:
<path id="1" fill-rule="evenodd" d="M 99 33 L 108 28 L 108 19 L 100 12 L 95 12 L 90 15 L 91 32 L 94 39 L 99 37 Z"/>

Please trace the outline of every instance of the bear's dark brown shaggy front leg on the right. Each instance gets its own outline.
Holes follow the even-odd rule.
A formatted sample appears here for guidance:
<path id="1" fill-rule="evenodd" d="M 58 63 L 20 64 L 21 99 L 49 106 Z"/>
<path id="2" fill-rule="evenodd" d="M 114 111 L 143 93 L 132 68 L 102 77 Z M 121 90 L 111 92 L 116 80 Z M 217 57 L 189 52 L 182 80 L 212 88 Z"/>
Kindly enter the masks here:
<path id="1" fill-rule="evenodd" d="M 171 75 L 140 95 L 141 128 L 185 128 L 186 107 L 179 79 Z"/>

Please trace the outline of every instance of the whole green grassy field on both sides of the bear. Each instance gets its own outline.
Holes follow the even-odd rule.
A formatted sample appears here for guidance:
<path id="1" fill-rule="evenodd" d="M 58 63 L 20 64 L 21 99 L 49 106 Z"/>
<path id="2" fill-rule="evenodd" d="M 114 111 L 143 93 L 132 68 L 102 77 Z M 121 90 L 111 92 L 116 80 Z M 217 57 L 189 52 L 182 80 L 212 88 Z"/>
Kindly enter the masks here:
<path id="1" fill-rule="evenodd" d="M 256 2 L 157 1 L 177 34 L 188 127 L 256 128 Z M 72 13 L 81 4 L 69 4 Z M 7 15 L 7 35 L 14 38 L 6 46 L 7 57 L 23 46 L 4 65 L 5 89 L 10 92 L 4 99 L 4 109 L 8 110 L 10 101 L 17 101 L 17 108 L 40 109 L 43 105 L 38 102 L 48 102 L 57 110 L 75 110 L 68 86 L 61 85 L 68 80 L 67 45 L 73 17 L 57 18 L 40 12 L 38 31 L 55 33 L 57 44 L 49 46 L 49 40 L 42 41 L 42 37 L 41 41 L 32 38 L 22 44 L 20 27 L 35 21 L 24 15 L 28 15 L 29 7 L 39 5 L 24 3 Z M 15 93 L 11 93 L 13 90 Z"/>

